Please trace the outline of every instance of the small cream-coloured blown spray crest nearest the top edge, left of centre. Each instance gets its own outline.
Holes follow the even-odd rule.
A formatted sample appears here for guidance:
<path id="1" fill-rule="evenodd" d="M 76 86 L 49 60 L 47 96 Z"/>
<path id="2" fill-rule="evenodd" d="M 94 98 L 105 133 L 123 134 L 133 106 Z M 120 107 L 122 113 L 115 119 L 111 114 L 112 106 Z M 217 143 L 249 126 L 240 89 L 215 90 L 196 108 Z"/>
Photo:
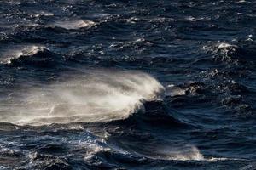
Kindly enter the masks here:
<path id="1" fill-rule="evenodd" d="M 86 28 L 90 26 L 95 26 L 96 23 L 91 20 L 65 20 L 57 21 L 53 26 L 61 27 L 67 30 L 76 30 L 80 28 Z"/>

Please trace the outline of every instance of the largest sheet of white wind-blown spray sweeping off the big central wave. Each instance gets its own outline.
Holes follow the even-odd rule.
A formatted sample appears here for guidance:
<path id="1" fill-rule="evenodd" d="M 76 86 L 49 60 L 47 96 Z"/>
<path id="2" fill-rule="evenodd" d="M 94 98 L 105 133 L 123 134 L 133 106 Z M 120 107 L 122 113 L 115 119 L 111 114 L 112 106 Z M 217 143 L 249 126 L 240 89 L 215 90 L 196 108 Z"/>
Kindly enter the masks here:
<path id="1" fill-rule="evenodd" d="M 19 99 L 0 105 L 0 118 L 3 122 L 35 125 L 125 119 L 143 109 L 143 100 L 157 99 L 163 89 L 145 73 L 96 71 L 23 90 Z"/>

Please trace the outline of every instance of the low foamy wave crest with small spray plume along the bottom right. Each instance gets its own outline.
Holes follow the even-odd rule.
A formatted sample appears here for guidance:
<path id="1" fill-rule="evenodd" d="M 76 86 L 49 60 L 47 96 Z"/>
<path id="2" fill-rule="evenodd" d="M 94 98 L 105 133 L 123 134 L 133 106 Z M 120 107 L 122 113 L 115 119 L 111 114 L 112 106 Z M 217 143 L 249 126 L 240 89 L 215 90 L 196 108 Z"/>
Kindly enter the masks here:
<path id="1" fill-rule="evenodd" d="M 126 157 L 127 159 L 131 157 L 137 157 L 137 160 L 140 159 L 148 159 L 151 161 L 159 160 L 159 161 L 249 161 L 245 159 L 239 158 L 227 158 L 227 157 L 208 157 L 206 158 L 200 152 L 200 150 L 194 145 L 185 145 L 183 147 L 162 147 L 159 146 L 157 150 L 151 149 L 150 153 L 143 154 L 138 153 L 137 151 L 127 151 L 123 150 L 119 147 L 112 147 L 105 142 L 95 140 L 89 140 L 89 142 L 85 141 L 80 143 L 81 145 L 86 145 L 88 149 L 84 159 L 86 161 L 90 161 L 95 156 L 101 156 L 104 152 L 111 153 L 112 156 L 117 155 L 122 157 Z M 149 151 L 149 150 L 148 150 Z"/>

